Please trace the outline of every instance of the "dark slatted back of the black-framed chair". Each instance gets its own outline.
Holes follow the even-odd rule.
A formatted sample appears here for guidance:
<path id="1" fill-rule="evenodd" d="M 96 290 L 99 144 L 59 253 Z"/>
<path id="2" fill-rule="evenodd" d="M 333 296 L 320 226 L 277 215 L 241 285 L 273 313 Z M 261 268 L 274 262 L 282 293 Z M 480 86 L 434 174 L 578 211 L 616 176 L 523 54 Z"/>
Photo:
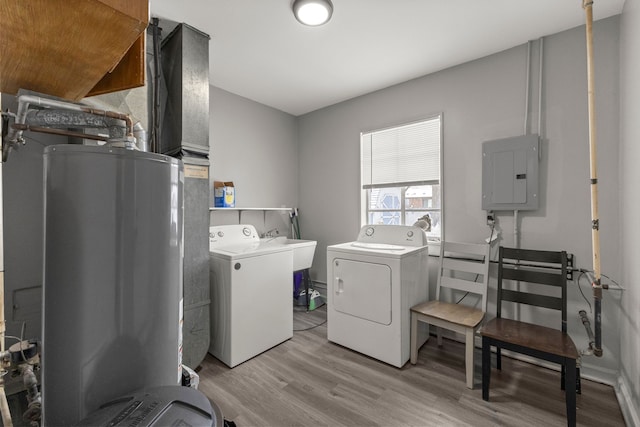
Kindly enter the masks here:
<path id="1" fill-rule="evenodd" d="M 526 290 L 505 289 L 505 281 L 545 286 L 526 286 Z M 549 295 L 546 287 L 560 288 L 560 296 Z M 557 292 L 557 291 L 556 291 Z M 502 317 L 502 302 L 527 304 L 558 310 L 562 330 L 567 331 L 567 253 L 500 247 L 498 253 L 497 316 Z"/>

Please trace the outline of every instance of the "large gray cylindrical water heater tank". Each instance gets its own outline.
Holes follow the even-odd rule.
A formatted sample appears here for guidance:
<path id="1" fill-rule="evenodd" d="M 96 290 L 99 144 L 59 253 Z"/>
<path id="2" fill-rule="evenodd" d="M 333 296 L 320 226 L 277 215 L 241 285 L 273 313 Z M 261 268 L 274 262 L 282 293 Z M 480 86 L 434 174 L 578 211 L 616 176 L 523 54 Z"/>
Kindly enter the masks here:
<path id="1" fill-rule="evenodd" d="M 179 383 L 183 175 L 158 154 L 45 149 L 45 425 Z"/>

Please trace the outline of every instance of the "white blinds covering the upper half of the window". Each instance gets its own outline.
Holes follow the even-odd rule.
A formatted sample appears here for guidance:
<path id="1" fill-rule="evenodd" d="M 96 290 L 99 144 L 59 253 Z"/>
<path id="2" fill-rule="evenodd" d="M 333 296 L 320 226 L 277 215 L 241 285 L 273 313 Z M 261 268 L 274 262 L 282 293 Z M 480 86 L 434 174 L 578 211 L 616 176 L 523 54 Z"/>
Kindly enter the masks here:
<path id="1" fill-rule="evenodd" d="M 362 188 L 440 180 L 441 116 L 362 134 Z"/>

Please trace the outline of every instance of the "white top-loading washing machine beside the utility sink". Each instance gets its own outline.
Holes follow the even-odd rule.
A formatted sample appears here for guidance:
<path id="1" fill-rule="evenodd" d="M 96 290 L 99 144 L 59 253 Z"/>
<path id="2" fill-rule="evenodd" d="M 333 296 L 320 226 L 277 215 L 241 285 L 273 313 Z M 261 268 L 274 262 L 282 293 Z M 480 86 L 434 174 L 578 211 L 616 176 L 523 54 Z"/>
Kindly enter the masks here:
<path id="1" fill-rule="evenodd" d="M 293 336 L 293 252 L 260 241 L 253 225 L 209 229 L 209 353 L 238 364 Z"/>

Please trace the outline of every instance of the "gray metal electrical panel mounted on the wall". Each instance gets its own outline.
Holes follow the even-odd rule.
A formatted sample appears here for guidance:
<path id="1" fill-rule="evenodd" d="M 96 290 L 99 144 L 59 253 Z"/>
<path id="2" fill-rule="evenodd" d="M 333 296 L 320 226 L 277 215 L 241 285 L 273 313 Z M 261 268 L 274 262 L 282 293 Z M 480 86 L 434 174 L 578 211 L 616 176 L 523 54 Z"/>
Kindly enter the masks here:
<path id="1" fill-rule="evenodd" d="M 482 143 L 482 209 L 538 209 L 538 135 Z"/>

